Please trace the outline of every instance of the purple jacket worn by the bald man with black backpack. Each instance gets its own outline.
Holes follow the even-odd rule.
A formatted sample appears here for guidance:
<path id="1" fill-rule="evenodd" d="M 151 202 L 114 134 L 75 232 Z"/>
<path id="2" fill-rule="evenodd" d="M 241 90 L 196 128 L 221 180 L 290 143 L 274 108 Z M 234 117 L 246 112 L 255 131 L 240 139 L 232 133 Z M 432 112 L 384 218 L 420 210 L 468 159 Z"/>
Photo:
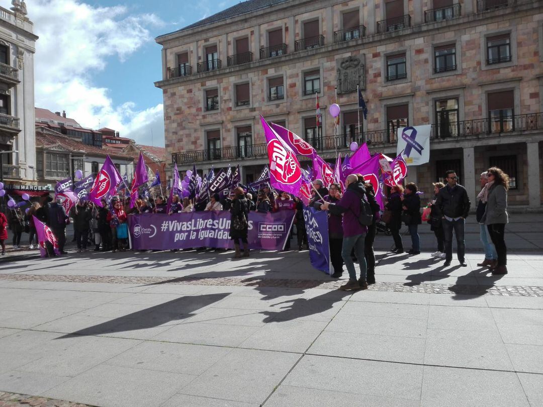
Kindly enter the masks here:
<path id="1" fill-rule="evenodd" d="M 342 199 L 337 203 L 331 203 L 329 211 L 333 215 L 343 213 L 343 236 L 352 237 L 368 232 L 368 228 L 358 221 L 360 215 L 360 200 L 363 196 L 368 196 L 366 188 L 362 182 L 350 183 L 343 194 Z"/>

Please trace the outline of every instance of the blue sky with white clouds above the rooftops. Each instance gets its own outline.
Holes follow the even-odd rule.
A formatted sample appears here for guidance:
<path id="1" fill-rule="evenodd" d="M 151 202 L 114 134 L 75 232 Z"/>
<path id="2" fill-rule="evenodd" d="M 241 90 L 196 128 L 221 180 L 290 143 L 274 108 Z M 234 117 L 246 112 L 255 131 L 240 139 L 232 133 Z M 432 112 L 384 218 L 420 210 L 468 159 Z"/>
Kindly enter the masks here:
<path id="1" fill-rule="evenodd" d="M 154 39 L 238 3 L 198 0 L 27 0 L 40 36 L 35 105 L 90 128 L 164 145 L 161 46 Z M 4 8 L 11 1 L 0 0 Z"/>

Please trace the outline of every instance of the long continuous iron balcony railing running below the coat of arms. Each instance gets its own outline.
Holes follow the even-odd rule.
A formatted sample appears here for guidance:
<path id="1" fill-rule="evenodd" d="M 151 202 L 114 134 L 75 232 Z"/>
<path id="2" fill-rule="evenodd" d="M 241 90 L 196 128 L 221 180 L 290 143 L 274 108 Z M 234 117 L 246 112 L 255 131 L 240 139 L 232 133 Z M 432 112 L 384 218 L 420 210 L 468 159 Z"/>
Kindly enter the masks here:
<path id="1" fill-rule="evenodd" d="M 447 139 L 540 129 L 543 129 L 543 113 L 529 113 L 528 115 L 462 120 L 452 123 L 442 120 L 440 124 L 432 124 L 430 137 L 432 139 Z M 353 141 L 356 141 L 358 144 L 368 143 L 369 145 L 394 144 L 397 142 L 396 130 L 397 128 L 394 126 L 384 130 L 315 137 L 307 141 L 317 150 L 349 149 Z M 267 154 L 267 144 L 250 144 L 242 147 L 174 152 L 172 154 L 172 162 L 177 164 L 192 164 L 193 162 L 201 161 L 259 158 L 266 157 Z"/>

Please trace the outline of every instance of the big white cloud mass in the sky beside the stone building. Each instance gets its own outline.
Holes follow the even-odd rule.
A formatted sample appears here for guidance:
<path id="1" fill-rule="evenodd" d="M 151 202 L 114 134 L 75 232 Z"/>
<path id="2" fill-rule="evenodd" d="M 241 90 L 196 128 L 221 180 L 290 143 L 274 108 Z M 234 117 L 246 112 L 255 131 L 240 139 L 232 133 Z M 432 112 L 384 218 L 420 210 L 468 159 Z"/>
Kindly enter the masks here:
<path id="1" fill-rule="evenodd" d="M 36 0 L 28 4 L 36 42 L 36 106 L 66 110 L 81 125 L 109 127 L 124 137 L 163 145 L 162 104 L 144 110 L 132 101 L 116 106 L 111 90 L 93 83 L 108 58 L 123 61 L 153 42 L 149 27 L 163 22 L 153 14 L 129 15 L 124 6 L 93 7 L 77 0 Z"/>

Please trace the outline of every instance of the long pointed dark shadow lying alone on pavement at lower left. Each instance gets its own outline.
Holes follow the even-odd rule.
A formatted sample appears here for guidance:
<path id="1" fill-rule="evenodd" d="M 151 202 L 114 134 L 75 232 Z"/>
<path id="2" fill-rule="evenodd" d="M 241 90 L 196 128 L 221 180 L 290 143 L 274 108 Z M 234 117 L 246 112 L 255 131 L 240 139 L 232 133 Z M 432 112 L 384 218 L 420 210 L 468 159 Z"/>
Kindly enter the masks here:
<path id="1" fill-rule="evenodd" d="M 190 318 L 195 315 L 193 314 L 194 311 L 223 300 L 223 298 L 229 295 L 229 292 L 222 292 L 220 294 L 194 295 L 176 298 L 175 300 L 154 307 L 123 315 L 108 322 L 80 329 L 71 334 L 62 335 L 56 339 L 71 338 L 73 335 L 93 336 L 154 328 L 167 322 Z"/>

